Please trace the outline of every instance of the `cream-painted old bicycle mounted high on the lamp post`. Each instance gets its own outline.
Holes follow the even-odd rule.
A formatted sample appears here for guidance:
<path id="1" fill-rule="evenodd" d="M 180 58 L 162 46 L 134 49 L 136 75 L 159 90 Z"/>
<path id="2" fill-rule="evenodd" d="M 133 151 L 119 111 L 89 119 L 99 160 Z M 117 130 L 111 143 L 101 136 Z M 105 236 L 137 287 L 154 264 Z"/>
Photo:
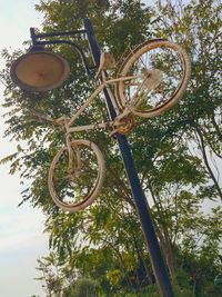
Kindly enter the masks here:
<path id="1" fill-rule="evenodd" d="M 73 139 L 71 133 L 108 128 L 113 129 L 112 133 L 130 132 L 134 128 L 134 116 L 151 118 L 171 109 L 184 93 L 191 72 L 186 52 L 165 39 L 148 40 L 130 50 L 114 78 L 109 73 L 112 65 L 111 56 L 102 53 L 98 88 L 74 115 L 53 121 L 63 127 L 65 145 L 52 160 L 48 185 L 53 201 L 65 211 L 79 211 L 94 201 L 105 170 L 99 147 L 90 140 Z M 117 111 L 115 119 L 71 127 L 104 88 Z"/>

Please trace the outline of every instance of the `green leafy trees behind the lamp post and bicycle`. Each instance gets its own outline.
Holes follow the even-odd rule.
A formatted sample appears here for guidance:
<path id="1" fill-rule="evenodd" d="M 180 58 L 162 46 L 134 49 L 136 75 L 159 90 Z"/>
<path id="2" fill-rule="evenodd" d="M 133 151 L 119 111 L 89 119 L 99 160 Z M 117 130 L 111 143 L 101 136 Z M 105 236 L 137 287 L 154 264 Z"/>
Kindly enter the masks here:
<path id="1" fill-rule="evenodd" d="M 111 50 L 117 59 L 125 48 L 129 51 L 150 37 L 168 38 L 189 52 L 192 77 L 183 99 L 161 117 L 140 126 L 137 120 L 129 141 L 175 296 L 220 296 L 213 280 L 222 269 L 222 210 L 214 206 L 205 214 L 202 204 L 222 199 L 218 174 L 222 157 L 221 3 L 158 1 L 150 8 L 130 0 L 41 0 L 37 9 L 44 16 L 44 32 L 80 29 L 87 14 L 101 48 Z M 92 63 L 84 38 L 75 42 Z M 64 214 L 51 200 L 48 170 L 63 143 L 63 132 L 54 130 L 47 118 L 70 116 L 95 86 L 94 80 L 89 83 L 78 53 L 64 46 L 54 50 L 71 65 L 70 78 L 57 90 L 29 93 L 12 83 L 9 68 L 21 51 L 2 52 L 6 69 L 0 73 L 6 85 L 6 136 L 19 142 L 1 164 L 10 164 L 10 174 L 20 172 L 22 202 L 31 202 L 47 216 L 53 254 L 38 261 L 39 280 L 44 281 L 47 294 L 54 295 L 158 297 L 128 178 L 109 132 L 74 135 L 95 141 L 104 154 L 105 185 L 97 201 L 84 211 Z M 107 119 L 105 103 L 98 98 L 77 123 Z"/>

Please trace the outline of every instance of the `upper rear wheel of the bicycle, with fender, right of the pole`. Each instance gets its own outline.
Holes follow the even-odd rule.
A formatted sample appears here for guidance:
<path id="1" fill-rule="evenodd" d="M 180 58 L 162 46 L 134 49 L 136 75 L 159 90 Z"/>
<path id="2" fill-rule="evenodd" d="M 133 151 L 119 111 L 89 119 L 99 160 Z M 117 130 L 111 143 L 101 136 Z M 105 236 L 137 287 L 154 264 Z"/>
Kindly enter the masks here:
<path id="1" fill-rule="evenodd" d="M 117 99 L 140 117 L 151 118 L 172 108 L 182 97 L 190 78 L 186 52 L 176 43 L 154 39 L 130 52 L 119 70 Z"/>

